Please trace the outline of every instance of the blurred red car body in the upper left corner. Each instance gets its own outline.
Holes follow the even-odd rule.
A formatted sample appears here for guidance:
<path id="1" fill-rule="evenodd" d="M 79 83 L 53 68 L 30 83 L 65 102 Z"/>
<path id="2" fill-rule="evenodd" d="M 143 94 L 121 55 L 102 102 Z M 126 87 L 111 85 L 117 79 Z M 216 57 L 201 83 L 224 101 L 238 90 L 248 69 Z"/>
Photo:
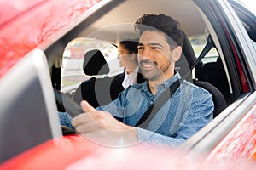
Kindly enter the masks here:
<path id="1" fill-rule="evenodd" d="M 0 77 L 33 48 L 47 48 L 101 0 L 0 2 Z"/>

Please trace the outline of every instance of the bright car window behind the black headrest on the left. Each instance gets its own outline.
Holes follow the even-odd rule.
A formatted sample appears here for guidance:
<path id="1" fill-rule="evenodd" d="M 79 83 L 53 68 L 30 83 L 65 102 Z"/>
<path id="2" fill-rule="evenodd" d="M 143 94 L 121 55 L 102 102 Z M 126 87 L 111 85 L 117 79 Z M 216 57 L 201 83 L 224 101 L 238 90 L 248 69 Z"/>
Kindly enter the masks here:
<path id="1" fill-rule="evenodd" d="M 80 82 L 84 82 L 91 77 L 85 75 L 83 70 L 84 54 L 91 49 L 99 49 L 104 55 L 110 69 L 108 76 L 123 71 L 123 68 L 119 67 L 117 48 L 112 42 L 76 38 L 67 44 L 62 54 L 61 89 L 63 92 L 72 94 Z"/>

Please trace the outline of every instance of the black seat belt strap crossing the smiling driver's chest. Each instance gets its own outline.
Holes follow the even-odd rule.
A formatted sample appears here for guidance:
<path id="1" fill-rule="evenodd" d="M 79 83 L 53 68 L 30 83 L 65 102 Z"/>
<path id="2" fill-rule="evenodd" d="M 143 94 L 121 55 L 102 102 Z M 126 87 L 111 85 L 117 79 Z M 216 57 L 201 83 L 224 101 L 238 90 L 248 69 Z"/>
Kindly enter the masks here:
<path id="1" fill-rule="evenodd" d="M 137 122 L 136 127 L 142 127 L 146 129 L 157 111 L 159 111 L 160 108 L 166 103 L 166 101 L 172 97 L 172 94 L 176 92 L 177 88 L 182 82 L 183 78 L 174 82 L 169 88 L 166 88 L 166 90 L 161 93 L 160 96 L 155 100 L 154 104 L 149 106 L 148 110 Z"/>

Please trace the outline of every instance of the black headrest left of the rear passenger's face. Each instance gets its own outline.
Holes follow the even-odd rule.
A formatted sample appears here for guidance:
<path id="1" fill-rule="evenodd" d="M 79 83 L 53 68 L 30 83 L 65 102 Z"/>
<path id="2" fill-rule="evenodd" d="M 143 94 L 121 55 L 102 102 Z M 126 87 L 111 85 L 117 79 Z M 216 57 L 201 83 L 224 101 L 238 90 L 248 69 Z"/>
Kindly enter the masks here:
<path id="1" fill-rule="evenodd" d="M 84 74 L 85 75 L 104 75 L 109 73 L 109 67 L 102 52 L 92 49 L 84 54 Z"/>

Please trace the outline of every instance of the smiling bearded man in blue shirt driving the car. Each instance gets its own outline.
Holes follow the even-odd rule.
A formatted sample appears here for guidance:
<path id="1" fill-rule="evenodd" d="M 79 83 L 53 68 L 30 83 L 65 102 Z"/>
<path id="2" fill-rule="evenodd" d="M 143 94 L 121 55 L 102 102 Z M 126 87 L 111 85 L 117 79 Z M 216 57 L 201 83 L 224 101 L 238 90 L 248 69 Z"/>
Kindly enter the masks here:
<path id="1" fill-rule="evenodd" d="M 212 120 L 212 96 L 203 88 L 181 81 L 174 69 L 183 46 L 183 31 L 177 20 L 164 14 L 144 14 L 135 26 L 140 33 L 138 63 L 148 81 L 130 86 L 118 99 L 96 109 L 82 101 L 84 113 L 73 118 L 72 126 L 99 144 L 122 146 L 149 142 L 176 147 Z M 166 88 L 178 84 L 177 81 L 180 85 L 172 97 L 148 123 L 143 122 L 150 105 Z M 123 118 L 123 122 L 113 116 Z"/>

